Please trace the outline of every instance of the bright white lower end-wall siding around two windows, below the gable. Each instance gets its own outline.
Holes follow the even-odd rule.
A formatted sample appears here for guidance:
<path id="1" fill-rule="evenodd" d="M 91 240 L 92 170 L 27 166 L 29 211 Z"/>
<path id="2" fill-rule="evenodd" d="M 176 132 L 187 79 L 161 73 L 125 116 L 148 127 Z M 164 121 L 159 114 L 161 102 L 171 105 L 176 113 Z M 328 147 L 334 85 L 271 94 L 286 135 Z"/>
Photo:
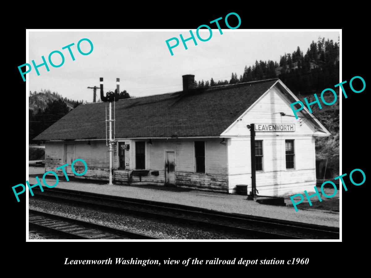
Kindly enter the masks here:
<path id="1" fill-rule="evenodd" d="M 256 172 L 256 188 L 259 195 L 298 193 L 308 188 L 308 185 L 315 185 L 314 138 L 265 138 L 260 135 L 256 139 L 263 140 L 263 171 Z M 295 140 L 295 169 L 286 169 L 286 139 Z M 228 140 L 228 165 L 229 192 L 235 192 L 237 184 L 247 184 L 250 191 L 250 138 Z"/>

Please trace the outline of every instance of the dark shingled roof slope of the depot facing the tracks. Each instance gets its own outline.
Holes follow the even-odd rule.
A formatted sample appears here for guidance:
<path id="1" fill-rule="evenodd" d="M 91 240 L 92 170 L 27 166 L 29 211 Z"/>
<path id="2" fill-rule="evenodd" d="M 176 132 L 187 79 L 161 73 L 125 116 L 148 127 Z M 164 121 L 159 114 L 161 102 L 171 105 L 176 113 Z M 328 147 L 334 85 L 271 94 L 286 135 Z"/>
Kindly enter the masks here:
<path id="1" fill-rule="evenodd" d="M 119 100 L 116 138 L 219 136 L 277 80 Z M 105 139 L 105 106 L 79 105 L 34 140 Z"/>

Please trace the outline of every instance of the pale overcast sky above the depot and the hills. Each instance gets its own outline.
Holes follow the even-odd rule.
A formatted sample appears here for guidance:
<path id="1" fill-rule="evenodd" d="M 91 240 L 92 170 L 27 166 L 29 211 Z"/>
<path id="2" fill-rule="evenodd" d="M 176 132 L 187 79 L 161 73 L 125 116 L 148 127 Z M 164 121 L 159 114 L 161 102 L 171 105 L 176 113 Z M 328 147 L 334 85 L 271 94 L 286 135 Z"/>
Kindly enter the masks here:
<path id="1" fill-rule="evenodd" d="M 318 37 L 338 42 L 339 32 L 244 32 L 242 30 L 213 29 L 213 36 L 207 42 L 197 39 L 187 42 L 185 50 L 179 38 L 189 37 L 189 31 L 175 32 L 30 32 L 29 61 L 42 63 L 41 56 L 48 59 L 53 50 L 61 51 L 65 63 L 61 67 L 39 67 L 27 73 L 29 90 L 50 89 L 63 97 L 92 102 L 92 89 L 99 86 L 99 77 L 104 77 L 105 92 L 116 89 L 116 77 L 120 78 L 120 91 L 127 90 L 132 96 L 148 96 L 182 90 L 182 75 L 193 74 L 195 79 L 230 79 L 231 73 L 243 74 L 244 66 L 252 66 L 255 60 L 279 62 L 280 55 L 292 53 L 299 46 L 303 54 L 309 44 Z M 207 38 L 209 31 L 200 32 Z M 180 44 L 171 56 L 165 40 L 177 37 Z M 93 52 L 83 56 L 77 50 L 77 43 L 88 38 L 93 43 Z M 75 43 L 71 50 L 62 47 Z M 173 45 L 175 42 L 170 42 Z M 81 43 L 83 52 L 88 52 L 88 42 Z M 52 62 L 59 64 L 61 58 L 53 54 Z M 99 99 L 99 92 L 98 99 Z"/>

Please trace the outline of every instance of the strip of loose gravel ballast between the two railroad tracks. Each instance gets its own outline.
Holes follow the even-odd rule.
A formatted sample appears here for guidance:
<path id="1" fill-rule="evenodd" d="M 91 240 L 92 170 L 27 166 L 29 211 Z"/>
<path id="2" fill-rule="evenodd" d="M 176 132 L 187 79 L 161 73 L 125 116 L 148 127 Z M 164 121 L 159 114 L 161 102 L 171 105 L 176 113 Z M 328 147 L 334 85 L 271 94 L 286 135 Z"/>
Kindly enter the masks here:
<path id="1" fill-rule="evenodd" d="M 255 239 L 252 236 L 226 234 L 213 229 L 162 221 L 140 216 L 130 216 L 123 213 L 98 210 L 85 206 L 69 205 L 59 201 L 45 201 L 30 198 L 29 208 L 50 214 L 75 218 L 138 234 L 154 236 L 161 239 Z"/>

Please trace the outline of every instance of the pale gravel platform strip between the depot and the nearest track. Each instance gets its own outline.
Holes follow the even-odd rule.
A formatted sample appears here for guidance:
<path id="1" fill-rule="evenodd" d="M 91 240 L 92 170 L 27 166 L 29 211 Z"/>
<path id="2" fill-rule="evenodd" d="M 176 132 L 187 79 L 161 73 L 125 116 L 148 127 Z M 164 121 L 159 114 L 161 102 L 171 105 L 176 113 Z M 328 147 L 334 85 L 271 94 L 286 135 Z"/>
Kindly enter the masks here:
<path id="1" fill-rule="evenodd" d="M 43 172 L 43 168 L 30 167 L 30 175 L 28 179 L 30 184 L 35 184 L 37 182 L 35 178 L 36 176 L 39 176 L 39 179 L 42 180 Z M 47 176 L 45 180 L 50 185 L 55 184 L 55 178 L 52 176 Z M 144 199 L 149 201 L 176 203 L 221 212 L 263 216 L 288 221 L 339 227 L 339 213 L 302 209 L 299 209 L 299 211 L 296 212 L 293 207 L 262 205 L 255 201 L 248 201 L 246 200 L 247 196 L 243 195 L 156 185 L 107 185 L 107 182 L 105 181 L 91 181 L 88 179 L 76 178 L 71 178 L 68 182 L 64 178 L 59 179 L 56 188 Z"/>

